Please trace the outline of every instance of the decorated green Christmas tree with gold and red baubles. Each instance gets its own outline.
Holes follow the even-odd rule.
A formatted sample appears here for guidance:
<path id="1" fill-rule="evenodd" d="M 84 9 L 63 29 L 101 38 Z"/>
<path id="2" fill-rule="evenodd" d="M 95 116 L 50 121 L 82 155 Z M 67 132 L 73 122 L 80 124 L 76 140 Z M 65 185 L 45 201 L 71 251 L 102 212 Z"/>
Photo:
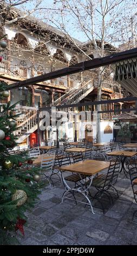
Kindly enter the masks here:
<path id="1" fill-rule="evenodd" d="M 1 99 L 9 96 L 6 86 L 0 82 Z M 25 212 L 35 205 L 42 186 L 40 168 L 32 166 L 28 152 L 11 154 L 17 146 L 14 108 L 8 102 L 0 112 L 0 245 L 14 244 L 17 231 L 24 235 Z"/>

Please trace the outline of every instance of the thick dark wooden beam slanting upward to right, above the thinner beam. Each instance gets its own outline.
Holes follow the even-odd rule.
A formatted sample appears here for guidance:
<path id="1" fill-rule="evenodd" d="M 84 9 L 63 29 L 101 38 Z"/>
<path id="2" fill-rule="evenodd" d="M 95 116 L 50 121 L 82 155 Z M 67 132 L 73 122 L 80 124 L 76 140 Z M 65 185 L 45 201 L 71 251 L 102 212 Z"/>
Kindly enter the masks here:
<path id="1" fill-rule="evenodd" d="M 100 66 L 106 66 L 109 64 L 114 64 L 116 62 L 125 60 L 125 59 L 129 59 L 129 58 L 133 58 L 133 57 L 137 57 L 137 48 L 133 48 L 131 50 L 128 51 L 124 51 L 124 52 L 119 52 L 113 55 L 109 55 L 103 58 L 95 58 L 92 60 L 87 60 L 85 62 L 81 62 L 81 63 L 77 63 L 75 65 L 71 65 L 68 68 L 64 68 L 64 69 L 60 69 L 60 70 L 56 70 L 53 72 L 49 72 L 48 74 L 44 74 L 41 76 L 36 76 L 36 77 L 32 77 L 29 78 L 27 80 L 24 81 L 19 81 L 17 83 L 13 83 L 10 86 L 8 86 L 7 89 L 11 89 L 11 88 L 16 88 L 16 87 L 27 87 L 30 84 L 35 84 L 38 82 L 42 82 L 42 81 L 47 81 L 47 80 L 51 80 L 57 77 L 62 77 L 62 76 L 66 76 L 66 75 L 70 75 L 70 74 L 75 74 L 77 72 L 82 72 L 84 70 L 89 70 L 89 69 L 95 69 L 95 68 L 99 68 Z"/>

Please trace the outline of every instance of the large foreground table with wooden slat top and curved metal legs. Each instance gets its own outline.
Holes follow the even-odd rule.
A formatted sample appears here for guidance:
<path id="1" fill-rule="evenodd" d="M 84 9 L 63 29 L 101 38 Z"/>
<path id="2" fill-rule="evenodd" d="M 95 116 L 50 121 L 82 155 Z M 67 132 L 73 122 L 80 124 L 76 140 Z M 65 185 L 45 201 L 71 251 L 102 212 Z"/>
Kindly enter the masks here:
<path id="1" fill-rule="evenodd" d="M 88 197 L 88 189 L 92 185 L 93 176 L 95 174 L 101 172 L 102 170 L 108 168 L 109 164 L 110 164 L 110 162 L 105 162 L 105 161 L 85 160 L 85 161 L 81 161 L 81 162 L 78 162 L 78 163 L 70 164 L 69 166 L 63 166 L 63 167 L 58 168 L 61 171 L 63 184 L 66 188 L 66 191 L 63 193 L 63 196 L 62 196 L 62 203 L 63 203 L 63 199 L 67 198 L 67 199 L 70 199 L 70 200 L 75 200 L 75 202 L 88 204 L 90 206 L 90 208 L 92 209 L 92 212 L 94 214 L 92 203 L 91 203 L 91 201 Z M 79 174 L 80 178 L 81 178 L 80 186 L 75 187 L 75 188 L 71 188 L 68 185 L 66 179 L 64 178 L 64 175 L 63 175 L 64 171 Z M 88 176 L 88 178 L 89 178 L 89 185 L 88 186 L 86 186 L 86 180 L 83 180 L 81 175 Z M 82 201 L 76 200 L 76 198 L 74 196 L 74 192 L 82 194 L 82 196 L 87 199 L 88 203 L 84 203 Z M 70 197 L 67 197 L 68 193 L 73 195 L 74 199 L 70 198 Z"/>

